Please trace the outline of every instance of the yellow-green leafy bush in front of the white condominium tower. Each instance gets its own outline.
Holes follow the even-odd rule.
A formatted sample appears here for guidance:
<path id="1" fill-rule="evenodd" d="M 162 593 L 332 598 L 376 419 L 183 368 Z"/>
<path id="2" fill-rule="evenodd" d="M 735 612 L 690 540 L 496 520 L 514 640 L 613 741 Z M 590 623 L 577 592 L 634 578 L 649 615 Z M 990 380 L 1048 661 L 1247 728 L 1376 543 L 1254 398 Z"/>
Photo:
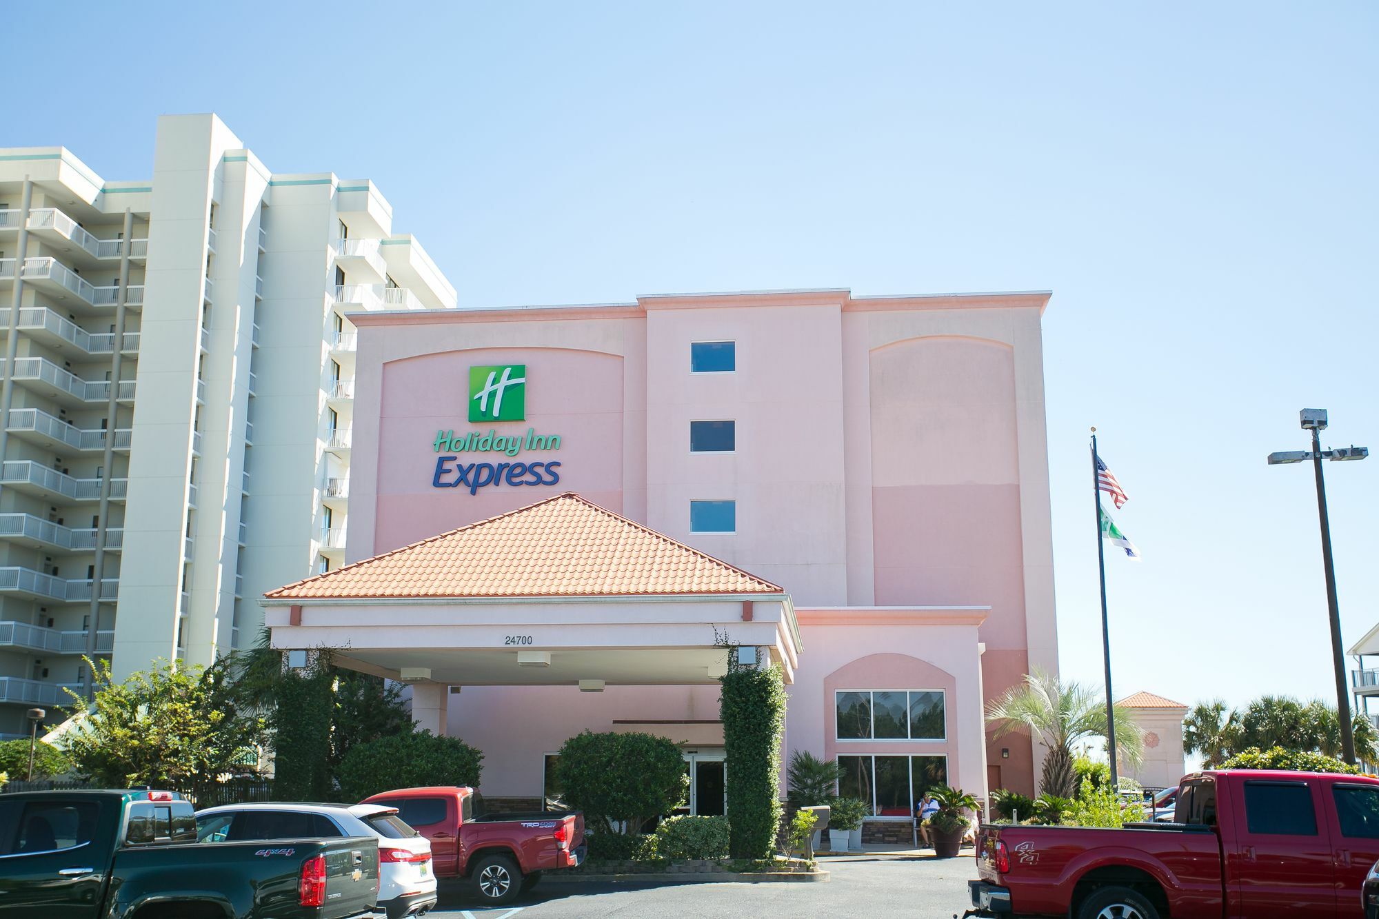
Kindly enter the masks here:
<path id="1" fill-rule="evenodd" d="M 108 661 L 87 666 L 95 697 L 74 697 L 70 712 L 84 718 L 63 745 L 92 782 L 194 792 L 256 764 L 263 720 L 240 706 L 225 658 L 205 668 L 159 662 L 123 683 Z"/>

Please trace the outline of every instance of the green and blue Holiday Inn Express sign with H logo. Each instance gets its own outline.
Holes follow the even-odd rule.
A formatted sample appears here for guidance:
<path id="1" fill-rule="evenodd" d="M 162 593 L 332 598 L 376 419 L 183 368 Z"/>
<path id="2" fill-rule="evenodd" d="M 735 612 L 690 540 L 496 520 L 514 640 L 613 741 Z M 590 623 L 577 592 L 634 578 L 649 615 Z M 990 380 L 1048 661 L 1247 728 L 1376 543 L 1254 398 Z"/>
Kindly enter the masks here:
<path id="1" fill-rule="evenodd" d="M 469 368 L 469 421 L 507 422 L 527 419 L 527 366 L 499 364 Z M 560 450 L 560 435 L 541 435 L 535 428 L 502 432 L 472 429 L 437 431 L 433 488 L 469 488 L 477 494 L 492 484 L 553 486 L 560 482 L 560 461 L 463 462 L 459 454 L 501 453 L 516 457 L 524 450 Z"/>

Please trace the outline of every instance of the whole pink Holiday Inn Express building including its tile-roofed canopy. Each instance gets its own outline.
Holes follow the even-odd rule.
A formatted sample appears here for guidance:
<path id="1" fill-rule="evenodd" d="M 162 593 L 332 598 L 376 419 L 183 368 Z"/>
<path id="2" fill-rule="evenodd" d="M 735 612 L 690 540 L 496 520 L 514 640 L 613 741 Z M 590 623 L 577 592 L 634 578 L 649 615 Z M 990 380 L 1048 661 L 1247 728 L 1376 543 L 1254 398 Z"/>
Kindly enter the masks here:
<path id="1" fill-rule="evenodd" d="M 359 313 L 348 564 L 266 595 L 273 643 L 410 682 L 488 796 L 647 730 L 723 813 L 716 635 L 782 666 L 783 755 L 838 758 L 878 818 L 938 781 L 1030 793 L 982 709 L 1058 669 L 1048 299 Z"/>

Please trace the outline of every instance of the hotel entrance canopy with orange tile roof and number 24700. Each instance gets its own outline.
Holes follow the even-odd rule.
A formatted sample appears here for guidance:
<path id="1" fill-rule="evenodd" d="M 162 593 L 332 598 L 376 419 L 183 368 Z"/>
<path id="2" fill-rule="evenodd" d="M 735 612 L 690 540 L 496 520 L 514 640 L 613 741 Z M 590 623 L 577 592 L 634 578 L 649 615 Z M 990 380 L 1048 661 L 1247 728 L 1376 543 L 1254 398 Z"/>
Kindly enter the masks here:
<path id="1" fill-rule="evenodd" d="M 561 494 L 263 597 L 277 649 L 451 686 L 694 684 L 723 642 L 793 682 L 790 596 L 725 562 Z"/>

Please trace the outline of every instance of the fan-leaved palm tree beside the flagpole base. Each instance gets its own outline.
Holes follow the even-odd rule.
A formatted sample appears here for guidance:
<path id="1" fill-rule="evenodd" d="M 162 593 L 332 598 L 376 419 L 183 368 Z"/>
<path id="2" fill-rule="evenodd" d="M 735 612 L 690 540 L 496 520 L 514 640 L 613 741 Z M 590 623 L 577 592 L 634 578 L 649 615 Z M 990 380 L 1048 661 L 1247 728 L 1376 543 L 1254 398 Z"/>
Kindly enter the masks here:
<path id="1" fill-rule="evenodd" d="M 1117 705 L 1116 748 L 1127 763 L 1139 763 L 1145 752 L 1145 731 L 1134 722 L 1128 708 Z M 986 706 L 986 722 L 996 727 L 994 737 L 1014 731 L 1030 734 L 1048 753 L 1040 791 L 1059 798 L 1074 798 L 1073 748 L 1092 737 L 1106 737 L 1106 701 L 1099 690 L 1083 683 L 1065 683 L 1036 669 L 1025 682 L 1012 686 L 1001 698 Z"/>

